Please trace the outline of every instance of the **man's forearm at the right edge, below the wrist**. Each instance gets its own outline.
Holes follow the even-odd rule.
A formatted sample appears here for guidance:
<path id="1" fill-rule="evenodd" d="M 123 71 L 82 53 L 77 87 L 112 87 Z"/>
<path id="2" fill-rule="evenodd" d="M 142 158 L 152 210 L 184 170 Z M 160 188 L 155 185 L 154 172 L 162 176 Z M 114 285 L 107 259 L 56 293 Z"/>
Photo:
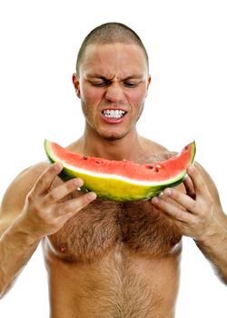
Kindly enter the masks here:
<path id="1" fill-rule="evenodd" d="M 217 222 L 215 233 L 201 240 L 195 240 L 195 243 L 212 263 L 222 282 L 227 284 L 227 230 Z"/>

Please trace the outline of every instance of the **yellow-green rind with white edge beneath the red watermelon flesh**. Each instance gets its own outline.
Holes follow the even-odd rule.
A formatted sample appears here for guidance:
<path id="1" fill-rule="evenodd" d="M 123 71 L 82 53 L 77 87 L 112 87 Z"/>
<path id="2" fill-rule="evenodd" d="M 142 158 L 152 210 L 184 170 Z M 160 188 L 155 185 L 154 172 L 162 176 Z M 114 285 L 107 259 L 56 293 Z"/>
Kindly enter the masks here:
<path id="1" fill-rule="evenodd" d="M 175 175 L 172 179 L 162 182 L 141 182 L 137 180 L 127 179 L 113 174 L 95 174 L 91 172 L 82 171 L 83 169 L 73 170 L 74 167 L 59 160 L 53 154 L 51 143 L 47 140 L 44 141 L 44 149 L 51 163 L 61 162 L 64 164 L 64 169 L 59 176 L 64 180 L 69 180 L 75 177 L 80 177 L 84 181 L 82 191 L 94 191 L 98 197 L 114 201 L 138 201 L 149 200 L 153 196 L 160 194 L 166 187 L 173 187 L 183 182 L 186 169 L 181 174 Z M 196 152 L 195 142 L 192 143 L 192 156 L 188 165 L 193 163 Z M 114 187 L 114 191 L 113 190 Z"/>

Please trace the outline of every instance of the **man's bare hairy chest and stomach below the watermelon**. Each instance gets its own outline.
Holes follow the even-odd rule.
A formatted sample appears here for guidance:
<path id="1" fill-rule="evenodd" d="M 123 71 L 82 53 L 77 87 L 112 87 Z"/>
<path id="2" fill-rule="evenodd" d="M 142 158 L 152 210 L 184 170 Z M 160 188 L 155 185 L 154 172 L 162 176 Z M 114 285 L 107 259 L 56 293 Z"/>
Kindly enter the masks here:
<path id="1" fill-rule="evenodd" d="M 43 246 L 51 318 L 173 318 L 181 234 L 150 201 L 96 199 Z"/>

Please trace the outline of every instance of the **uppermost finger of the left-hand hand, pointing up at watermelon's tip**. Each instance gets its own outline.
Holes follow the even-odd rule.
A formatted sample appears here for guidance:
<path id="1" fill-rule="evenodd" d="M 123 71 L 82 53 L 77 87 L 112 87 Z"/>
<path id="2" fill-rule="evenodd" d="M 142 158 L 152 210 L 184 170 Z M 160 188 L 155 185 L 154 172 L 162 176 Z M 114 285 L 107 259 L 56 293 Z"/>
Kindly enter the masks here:
<path id="1" fill-rule="evenodd" d="M 52 164 L 50 167 L 48 167 L 36 181 L 34 190 L 33 190 L 34 194 L 36 195 L 44 194 L 51 187 L 51 184 L 53 183 L 54 178 L 57 176 L 57 174 L 60 174 L 62 170 L 63 170 L 63 164 L 61 163 L 55 163 L 55 164 Z"/>

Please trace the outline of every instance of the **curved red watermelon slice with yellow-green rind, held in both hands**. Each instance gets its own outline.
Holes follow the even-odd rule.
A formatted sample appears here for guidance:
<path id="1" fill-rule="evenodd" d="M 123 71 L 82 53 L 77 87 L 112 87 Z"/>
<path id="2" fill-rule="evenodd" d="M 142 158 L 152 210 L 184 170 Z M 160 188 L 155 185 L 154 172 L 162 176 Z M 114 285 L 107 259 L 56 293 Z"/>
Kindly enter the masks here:
<path id="1" fill-rule="evenodd" d="M 101 198 L 135 201 L 150 199 L 167 186 L 180 184 L 193 163 L 196 146 L 192 142 L 181 153 L 155 164 L 86 157 L 48 140 L 44 141 L 44 149 L 52 163 L 64 165 L 60 174 L 64 180 L 80 177 L 84 180 L 83 190 L 94 191 Z"/>

